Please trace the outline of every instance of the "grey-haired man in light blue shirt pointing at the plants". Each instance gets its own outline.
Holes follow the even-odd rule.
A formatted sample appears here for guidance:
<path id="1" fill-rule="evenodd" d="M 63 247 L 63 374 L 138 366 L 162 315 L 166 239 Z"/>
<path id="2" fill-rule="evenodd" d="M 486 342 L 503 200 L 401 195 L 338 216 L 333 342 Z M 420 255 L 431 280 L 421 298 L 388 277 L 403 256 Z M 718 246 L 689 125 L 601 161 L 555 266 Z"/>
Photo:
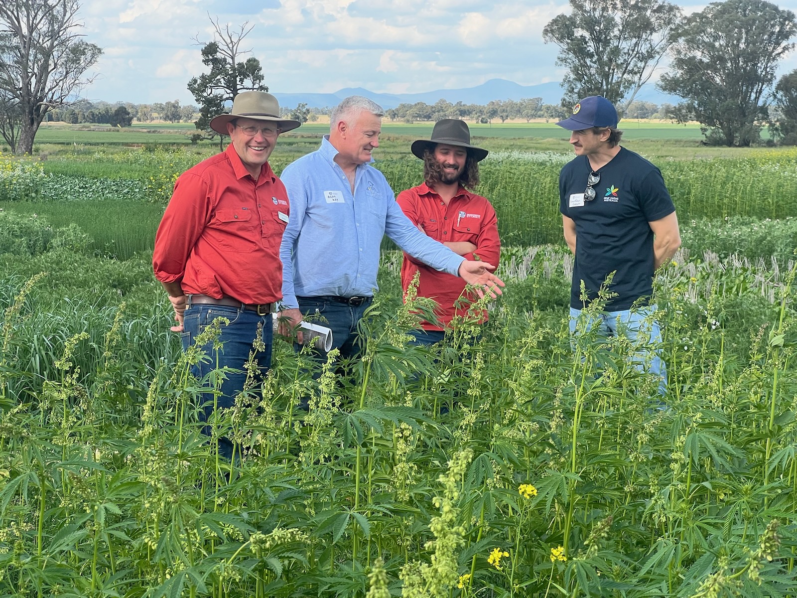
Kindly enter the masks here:
<path id="1" fill-rule="evenodd" d="M 280 177 L 291 207 L 280 247 L 280 332 L 290 335 L 302 314 L 319 313 L 342 357 L 359 353 L 357 324 L 377 289 L 384 234 L 414 258 L 461 276 L 493 297 L 504 285 L 492 273 L 495 266 L 465 260 L 403 214 L 384 175 L 370 164 L 371 151 L 379 147 L 382 116 L 379 104 L 347 97 L 332 111 L 321 147 L 289 164 Z"/>

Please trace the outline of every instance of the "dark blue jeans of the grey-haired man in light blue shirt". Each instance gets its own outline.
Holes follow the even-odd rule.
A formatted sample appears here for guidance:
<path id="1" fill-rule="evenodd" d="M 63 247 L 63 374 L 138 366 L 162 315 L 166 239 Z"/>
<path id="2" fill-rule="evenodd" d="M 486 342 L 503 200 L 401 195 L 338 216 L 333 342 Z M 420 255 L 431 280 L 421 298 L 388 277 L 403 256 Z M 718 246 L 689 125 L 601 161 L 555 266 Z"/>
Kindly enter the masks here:
<path id="1" fill-rule="evenodd" d="M 371 305 L 370 300 L 362 305 L 347 305 L 324 297 L 296 297 L 296 301 L 308 321 L 332 329 L 332 348 L 340 349 L 341 358 L 357 357 L 363 352 L 365 339 L 357 334 L 357 325 Z M 320 357 L 326 360 L 327 354 L 321 351 Z"/>

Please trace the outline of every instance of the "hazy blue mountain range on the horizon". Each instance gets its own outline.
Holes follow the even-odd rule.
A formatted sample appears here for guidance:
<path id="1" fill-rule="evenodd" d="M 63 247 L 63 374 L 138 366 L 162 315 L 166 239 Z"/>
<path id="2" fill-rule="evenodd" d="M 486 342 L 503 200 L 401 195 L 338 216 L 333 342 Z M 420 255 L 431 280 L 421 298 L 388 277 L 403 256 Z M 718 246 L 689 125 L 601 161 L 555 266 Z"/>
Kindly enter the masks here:
<path id="1" fill-rule="evenodd" d="M 340 104 L 347 96 L 365 96 L 374 100 L 383 108 L 395 108 L 398 104 L 414 104 L 424 102 L 434 104 L 438 100 L 447 100 L 452 104 L 461 101 L 463 104 L 487 104 L 491 100 L 521 100 L 524 97 L 541 97 L 543 104 L 559 104 L 562 99 L 562 88 L 558 81 L 540 83 L 540 85 L 518 85 L 514 81 L 505 79 L 490 79 L 475 87 L 461 89 L 436 89 L 433 92 L 420 93 L 375 93 L 368 89 L 351 88 L 340 89 L 335 93 L 281 93 L 273 92 L 280 105 L 293 108 L 304 102 L 311 108 L 332 107 Z M 653 102 L 654 104 L 677 104 L 681 98 L 669 96 L 658 91 L 652 84 L 647 84 L 639 91 L 637 100 Z"/>

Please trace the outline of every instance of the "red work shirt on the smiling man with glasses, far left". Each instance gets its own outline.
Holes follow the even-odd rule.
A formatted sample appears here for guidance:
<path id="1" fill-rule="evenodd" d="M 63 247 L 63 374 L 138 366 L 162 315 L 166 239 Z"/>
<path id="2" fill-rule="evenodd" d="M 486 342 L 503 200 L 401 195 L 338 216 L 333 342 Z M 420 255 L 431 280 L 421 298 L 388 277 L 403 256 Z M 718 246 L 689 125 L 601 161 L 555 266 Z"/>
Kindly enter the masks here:
<path id="1" fill-rule="evenodd" d="M 177 179 L 155 235 L 155 277 L 186 294 L 275 303 L 288 216 L 288 193 L 269 164 L 255 182 L 230 144 Z"/>

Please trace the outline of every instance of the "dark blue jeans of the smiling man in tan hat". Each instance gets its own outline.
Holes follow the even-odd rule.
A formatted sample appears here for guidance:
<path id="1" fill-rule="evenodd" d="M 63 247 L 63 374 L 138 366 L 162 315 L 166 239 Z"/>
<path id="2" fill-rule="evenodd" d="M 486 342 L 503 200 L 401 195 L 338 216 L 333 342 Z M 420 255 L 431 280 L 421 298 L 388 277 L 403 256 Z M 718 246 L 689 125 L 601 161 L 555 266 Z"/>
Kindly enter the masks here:
<path id="1" fill-rule="evenodd" d="M 262 324 L 260 331 L 261 340 L 265 344 L 265 350 L 257 351 L 254 355 L 255 363 L 261 376 L 271 367 L 271 347 L 273 343 L 273 329 L 271 315 L 258 316 L 257 313 L 227 307 L 226 305 L 191 305 L 186 309 L 183 317 L 183 332 L 180 335 L 183 340 L 183 350 L 185 351 L 194 344 L 194 339 L 217 317 L 224 317 L 230 324 L 221 325 L 221 335 L 218 342 L 222 343 L 222 348 L 218 355 L 213 349 L 213 340 L 202 345 L 202 351 L 210 357 L 209 361 L 200 361 L 191 366 L 191 373 L 202 380 L 216 368 L 234 368 L 235 372 L 227 372 L 226 380 L 222 381 L 221 395 L 214 398 L 212 392 L 203 392 L 199 395 L 202 405 L 200 417 L 202 421 L 210 419 L 214 411 L 214 402 L 219 409 L 227 409 L 235 404 L 235 397 L 243 390 L 246 380 L 244 364 L 249 360 L 249 352 L 253 350 L 253 342 L 257 336 L 257 325 Z M 210 435 L 210 426 L 202 428 L 202 433 Z M 233 456 L 233 443 L 229 439 L 222 438 L 218 443 L 219 454 L 226 458 Z"/>

